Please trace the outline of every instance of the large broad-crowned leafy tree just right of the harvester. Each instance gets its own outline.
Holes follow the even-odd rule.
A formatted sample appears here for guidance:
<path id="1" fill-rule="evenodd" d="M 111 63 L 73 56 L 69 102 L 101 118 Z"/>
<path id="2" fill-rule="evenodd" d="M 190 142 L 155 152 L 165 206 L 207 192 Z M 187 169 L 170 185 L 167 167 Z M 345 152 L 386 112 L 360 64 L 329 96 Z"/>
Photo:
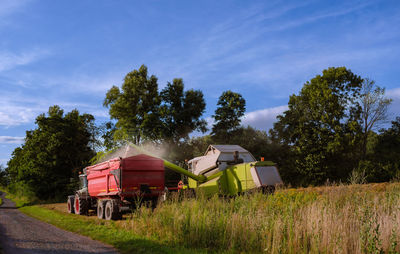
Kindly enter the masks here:
<path id="1" fill-rule="evenodd" d="M 290 147 L 295 168 L 286 170 L 298 173 L 302 184 L 345 179 L 358 164 L 361 83 L 345 67 L 324 70 L 290 96 L 289 109 L 277 117 L 271 135 Z"/>

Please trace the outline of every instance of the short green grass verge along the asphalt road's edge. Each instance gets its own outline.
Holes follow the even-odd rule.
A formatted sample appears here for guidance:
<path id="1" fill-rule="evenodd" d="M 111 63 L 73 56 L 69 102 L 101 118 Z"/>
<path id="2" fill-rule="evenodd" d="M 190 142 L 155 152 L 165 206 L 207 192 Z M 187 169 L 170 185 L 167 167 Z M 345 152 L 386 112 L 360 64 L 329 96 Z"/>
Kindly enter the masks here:
<path id="1" fill-rule="evenodd" d="M 206 253 L 203 250 L 168 246 L 158 239 L 143 238 L 115 226 L 113 221 L 93 220 L 85 216 L 64 214 L 40 206 L 25 206 L 21 212 L 56 227 L 88 236 L 114 246 L 121 253 Z"/>

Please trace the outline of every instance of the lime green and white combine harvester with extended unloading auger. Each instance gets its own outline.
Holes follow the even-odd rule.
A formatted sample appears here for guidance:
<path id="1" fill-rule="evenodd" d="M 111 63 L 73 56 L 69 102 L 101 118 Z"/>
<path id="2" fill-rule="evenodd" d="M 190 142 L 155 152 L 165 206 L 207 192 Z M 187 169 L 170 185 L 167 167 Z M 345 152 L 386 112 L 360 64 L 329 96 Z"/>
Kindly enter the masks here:
<path id="1" fill-rule="evenodd" d="M 233 196 L 255 189 L 270 192 L 282 184 L 274 162 L 257 161 L 238 145 L 210 145 L 203 156 L 188 161 L 188 170 L 163 161 L 166 168 L 188 177 L 184 188 L 201 191 L 207 196 Z"/>

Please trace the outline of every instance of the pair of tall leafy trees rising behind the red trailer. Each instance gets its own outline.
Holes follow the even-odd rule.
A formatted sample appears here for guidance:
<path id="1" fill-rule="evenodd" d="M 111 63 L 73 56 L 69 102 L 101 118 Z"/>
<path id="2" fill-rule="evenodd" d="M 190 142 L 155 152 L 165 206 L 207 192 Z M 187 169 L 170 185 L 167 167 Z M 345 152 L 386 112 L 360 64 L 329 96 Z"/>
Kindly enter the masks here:
<path id="1" fill-rule="evenodd" d="M 182 79 L 172 83 L 159 93 L 157 77 L 148 76 L 142 65 L 125 76 L 121 89 L 113 86 L 106 94 L 104 106 L 109 108 L 111 119 L 104 138 L 110 148 L 118 141 L 141 144 L 150 142 L 179 143 L 194 130 L 205 132 L 206 122 L 201 119 L 205 110 L 203 93 L 199 90 L 184 91 Z"/>

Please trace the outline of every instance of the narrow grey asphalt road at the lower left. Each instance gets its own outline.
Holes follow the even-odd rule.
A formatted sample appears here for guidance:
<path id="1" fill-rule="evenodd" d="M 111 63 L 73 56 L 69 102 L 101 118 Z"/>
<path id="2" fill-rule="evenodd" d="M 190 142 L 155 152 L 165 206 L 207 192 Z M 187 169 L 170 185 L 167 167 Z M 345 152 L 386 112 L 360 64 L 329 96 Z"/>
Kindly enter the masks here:
<path id="1" fill-rule="evenodd" d="M 33 219 L 4 196 L 0 192 L 0 246 L 4 254 L 118 253 L 111 246 Z"/>

